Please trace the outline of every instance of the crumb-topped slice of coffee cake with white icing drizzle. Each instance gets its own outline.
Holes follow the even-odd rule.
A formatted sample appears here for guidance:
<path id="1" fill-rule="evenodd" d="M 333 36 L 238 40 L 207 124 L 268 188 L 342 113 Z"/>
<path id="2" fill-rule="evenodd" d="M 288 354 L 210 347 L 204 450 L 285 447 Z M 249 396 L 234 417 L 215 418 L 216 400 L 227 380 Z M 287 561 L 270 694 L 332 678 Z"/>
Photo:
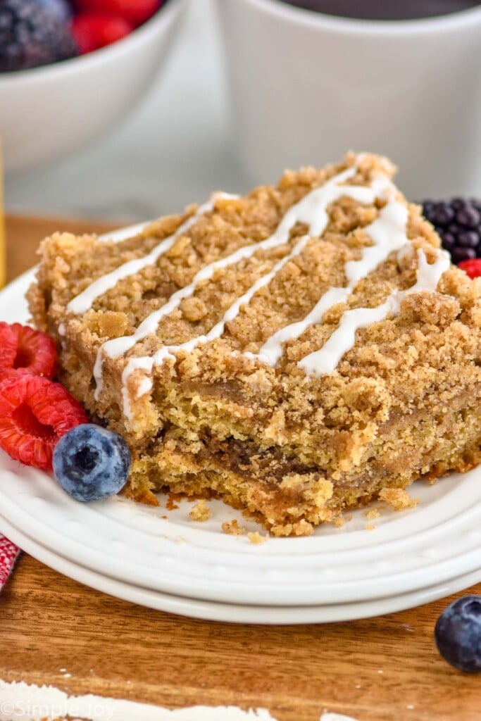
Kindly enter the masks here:
<path id="1" fill-rule="evenodd" d="M 481 281 L 392 172 L 349 154 L 121 242 L 43 242 L 32 317 L 130 444 L 127 495 L 216 495 L 309 534 L 480 461 Z"/>

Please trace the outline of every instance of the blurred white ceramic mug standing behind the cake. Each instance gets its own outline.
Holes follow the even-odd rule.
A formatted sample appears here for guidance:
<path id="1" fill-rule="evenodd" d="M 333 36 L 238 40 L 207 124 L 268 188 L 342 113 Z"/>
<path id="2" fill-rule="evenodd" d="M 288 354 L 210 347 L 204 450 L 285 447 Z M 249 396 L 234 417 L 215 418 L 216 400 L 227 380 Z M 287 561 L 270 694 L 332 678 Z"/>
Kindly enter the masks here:
<path id="1" fill-rule="evenodd" d="M 481 193 L 481 5 L 389 21 L 281 0 L 217 5 L 252 182 L 354 150 L 388 155 L 411 199 Z"/>

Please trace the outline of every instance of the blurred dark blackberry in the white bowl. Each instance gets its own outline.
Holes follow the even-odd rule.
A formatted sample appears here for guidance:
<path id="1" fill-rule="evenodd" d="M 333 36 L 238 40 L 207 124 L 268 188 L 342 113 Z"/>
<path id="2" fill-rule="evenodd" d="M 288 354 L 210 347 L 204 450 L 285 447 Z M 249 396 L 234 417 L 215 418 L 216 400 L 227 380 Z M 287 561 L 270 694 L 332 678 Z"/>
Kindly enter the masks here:
<path id="1" fill-rule="evenodd" d="M 35 68 L 78 54 L 69 26 L 43 0 L 0 0 L 0 72 Z"/>

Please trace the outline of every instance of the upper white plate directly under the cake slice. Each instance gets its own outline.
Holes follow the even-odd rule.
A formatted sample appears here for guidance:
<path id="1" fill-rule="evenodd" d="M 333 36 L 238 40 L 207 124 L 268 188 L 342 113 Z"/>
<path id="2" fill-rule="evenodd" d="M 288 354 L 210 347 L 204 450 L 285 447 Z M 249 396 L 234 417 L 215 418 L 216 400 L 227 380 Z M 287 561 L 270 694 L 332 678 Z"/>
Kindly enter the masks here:
<path id="1" fill-rule="evenodd" d="M 27 319 L 31 280 L 32 272 L 0 293 L 1 319 Z M 206 523 L 189 520 L 187 502 L 171 512 L 120 497 L 84 505 L 48 474 L 0 456 L 1 513 L 45 549 L 104 578 L 216 603 L 332 606 L 415 593 L 467 574 L 481 579 L 481 469 L 433 487 L 415 484 L 412 495 L 418 508 L 382 508 L 374 531 L 360 510 L 343 528 L 257 546 L 222 533 L 221 523 L 236 517 L 262 530 L 222 503 L 210 504 Z"/>

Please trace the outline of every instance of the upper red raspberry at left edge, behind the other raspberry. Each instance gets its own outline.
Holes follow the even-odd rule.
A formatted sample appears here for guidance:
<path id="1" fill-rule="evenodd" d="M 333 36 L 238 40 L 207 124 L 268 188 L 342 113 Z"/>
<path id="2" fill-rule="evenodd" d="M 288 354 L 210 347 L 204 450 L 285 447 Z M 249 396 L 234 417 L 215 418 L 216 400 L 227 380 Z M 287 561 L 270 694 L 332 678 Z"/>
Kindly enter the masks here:
<path id="1" fill-rule="evenodd" d="M 57 351 L 49 335 L 19 323 L 0 322 L 0 381 L 18 372 L 53 378 Z"/>

